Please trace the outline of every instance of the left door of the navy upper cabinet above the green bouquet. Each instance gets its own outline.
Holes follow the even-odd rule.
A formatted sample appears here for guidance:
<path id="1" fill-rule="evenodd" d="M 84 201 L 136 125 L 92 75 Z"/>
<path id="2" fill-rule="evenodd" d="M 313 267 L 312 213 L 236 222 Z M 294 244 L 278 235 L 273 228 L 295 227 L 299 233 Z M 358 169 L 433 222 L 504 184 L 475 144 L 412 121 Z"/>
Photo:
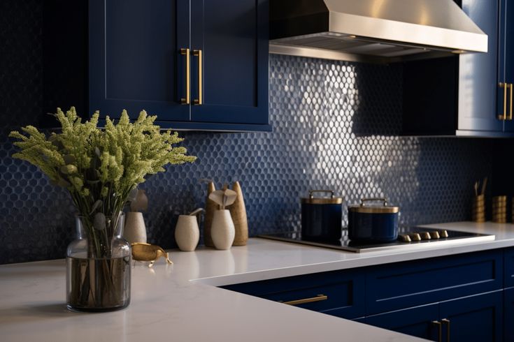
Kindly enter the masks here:
<path id="1" fill-rule="evenodd" d="M 189 3 L 178 0 L 90 0 L 90 112 L 188 121 L 185 56 Z"/>

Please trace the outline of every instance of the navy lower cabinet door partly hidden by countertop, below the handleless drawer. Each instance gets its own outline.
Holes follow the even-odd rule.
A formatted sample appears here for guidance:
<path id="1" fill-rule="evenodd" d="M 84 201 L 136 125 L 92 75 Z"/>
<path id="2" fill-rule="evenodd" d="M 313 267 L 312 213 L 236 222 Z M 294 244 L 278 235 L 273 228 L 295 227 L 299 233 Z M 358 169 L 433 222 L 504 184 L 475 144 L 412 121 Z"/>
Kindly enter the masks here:
<path id="1" fill-rule="evenodd" d="M 406 308 L 366 317 L 369 325 L 394 330 L 404 334 L 438 341 L 438 304 Z"/>

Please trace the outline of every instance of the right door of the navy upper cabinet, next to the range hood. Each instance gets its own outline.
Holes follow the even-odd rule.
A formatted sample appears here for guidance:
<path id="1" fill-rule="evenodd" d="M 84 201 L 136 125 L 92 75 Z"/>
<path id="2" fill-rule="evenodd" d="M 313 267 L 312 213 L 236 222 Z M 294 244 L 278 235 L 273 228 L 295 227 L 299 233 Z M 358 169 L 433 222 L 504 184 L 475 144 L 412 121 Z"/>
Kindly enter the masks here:
<path id="1" fill-rule="evenodd" d="M 268 124 L 268 1 L 191 0 L 191 43 L 192 121 Z"/>

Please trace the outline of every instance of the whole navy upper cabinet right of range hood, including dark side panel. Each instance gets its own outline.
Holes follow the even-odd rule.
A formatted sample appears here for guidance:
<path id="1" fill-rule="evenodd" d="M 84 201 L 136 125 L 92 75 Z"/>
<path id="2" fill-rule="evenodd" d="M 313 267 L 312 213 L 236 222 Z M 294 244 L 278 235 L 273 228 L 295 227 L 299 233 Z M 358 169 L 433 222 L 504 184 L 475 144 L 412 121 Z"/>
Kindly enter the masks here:
<path id="1" fill-rule="evenodd" d="M 404 64 L 404 135 L 514 137 L 514 1 L 455 2 L 488 52 Z"/>

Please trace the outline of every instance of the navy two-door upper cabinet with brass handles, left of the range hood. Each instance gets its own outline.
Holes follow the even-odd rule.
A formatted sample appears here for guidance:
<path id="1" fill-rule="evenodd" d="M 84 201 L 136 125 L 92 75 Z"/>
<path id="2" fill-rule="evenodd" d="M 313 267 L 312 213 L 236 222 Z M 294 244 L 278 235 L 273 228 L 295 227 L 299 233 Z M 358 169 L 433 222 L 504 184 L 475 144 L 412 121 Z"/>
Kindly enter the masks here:
<path id="1" fill-rule="evenodd" d="M 269 131 L 266 0 L 90 0 L 90 112 Z"/>

